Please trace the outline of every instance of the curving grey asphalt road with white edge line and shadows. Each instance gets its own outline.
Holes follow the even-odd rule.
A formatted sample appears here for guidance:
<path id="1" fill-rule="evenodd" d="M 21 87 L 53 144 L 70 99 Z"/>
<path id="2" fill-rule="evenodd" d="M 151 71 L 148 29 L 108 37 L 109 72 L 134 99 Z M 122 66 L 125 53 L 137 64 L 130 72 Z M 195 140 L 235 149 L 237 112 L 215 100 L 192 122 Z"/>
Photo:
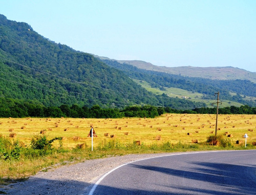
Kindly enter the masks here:
<path id="1" fill-rule="evenodd" d="M 256 194 L 256 150 L 182 153 L 127 163 L 89 194 Z"/>

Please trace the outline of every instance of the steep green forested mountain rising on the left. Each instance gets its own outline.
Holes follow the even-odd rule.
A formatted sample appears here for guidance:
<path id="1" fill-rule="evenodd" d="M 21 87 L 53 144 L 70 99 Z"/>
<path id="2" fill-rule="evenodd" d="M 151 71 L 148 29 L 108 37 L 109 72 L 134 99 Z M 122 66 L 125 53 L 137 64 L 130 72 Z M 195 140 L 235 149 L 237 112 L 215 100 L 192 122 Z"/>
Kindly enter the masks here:
<path id="1" fill-rule="evenodd" d="M 56 44 L 28 24 L 8 20 L 0 14 L 1 98 L 45 106 L 205 106 L 165 94 L 155 96 L 93 55 Z"/>

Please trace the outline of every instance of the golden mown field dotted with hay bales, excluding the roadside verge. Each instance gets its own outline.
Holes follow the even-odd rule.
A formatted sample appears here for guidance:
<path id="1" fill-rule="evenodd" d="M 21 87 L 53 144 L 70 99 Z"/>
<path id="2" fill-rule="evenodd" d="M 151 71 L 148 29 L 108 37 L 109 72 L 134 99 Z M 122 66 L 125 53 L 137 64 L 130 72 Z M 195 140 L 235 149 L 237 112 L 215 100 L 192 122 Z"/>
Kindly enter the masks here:
<path id="1" fill-rule="evenodd" d="M 202 143 L 207 136 L 215 135 L 215 124 L 216 115 L 208 114 L 164 114 L 154 119 L 2 118 L 0 135 L 18 139 L 29 146 L 32 137 L 41 135 L 40 132 L 46 130 L 48 139 L 63 137 L 63 147 L 72 148 L 78 143 L 91 146 L 88 134 L 93 126 L 98 136 L 93 139 L 94 146 L 111 139 L 118 139 L 123 143 L 140 140 L 146 145 L 165 141 L 188 144 L 191 140 Z M 248 135 L 248 144 L 256 142 L 255 115 L 219 115 L 218 129 L 218 135 L 231 135 L 230 139 L 234 144 L 237 140 L 245 140 L 245 134 Z M 107 133 L 109 135 L 104 136 Z M 9 138 L 10 134 L 16 134 L 16 137 Z M 110 135 L 115 136 L 111 138 Z M 157 136 L 161 136 L 161 139 L 156 140 Z"/>

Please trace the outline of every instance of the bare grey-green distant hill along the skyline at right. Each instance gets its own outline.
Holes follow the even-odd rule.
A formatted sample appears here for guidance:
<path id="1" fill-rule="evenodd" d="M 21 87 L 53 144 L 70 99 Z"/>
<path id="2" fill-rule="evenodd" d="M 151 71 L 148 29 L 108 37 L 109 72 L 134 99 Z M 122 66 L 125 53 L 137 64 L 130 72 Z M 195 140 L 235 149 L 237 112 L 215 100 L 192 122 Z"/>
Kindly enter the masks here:
<path id="1" fill-rule="evenodd" d="M 141 60 L 116 60 L 107 57 L 96 56 L 100 59 L 114 60 L 119 63 L 130 64 L 134 67 L 143 70 L 164 72 L 169 74 L 188 76 L 188 77 L 200 77 L 213 80 L 250 80 L 256 83 L 256 73 L 252 73 L 243 69 L 234 67 L 160 67 L 152 63 Z"/>

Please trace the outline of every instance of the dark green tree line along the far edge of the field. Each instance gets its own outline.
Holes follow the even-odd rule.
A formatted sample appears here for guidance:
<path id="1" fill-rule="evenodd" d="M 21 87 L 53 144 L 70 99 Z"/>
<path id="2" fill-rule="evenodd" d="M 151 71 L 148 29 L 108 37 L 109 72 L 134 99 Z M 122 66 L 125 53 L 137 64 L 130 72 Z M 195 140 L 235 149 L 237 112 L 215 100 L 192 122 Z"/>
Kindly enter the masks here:
<path id="1" fill-rule="evenodd" d="M 71 118 L 123 118 L 144 117 L 154 118 L 164 113 L 187 114 L 216 114 L 216 107 L 196 107 L 191 110 L 172 109 L 171 107 L 158 107 L 153 105 L 126 106 L 124 109 L 102 108 L 99 105 L 88 107 L 77 104 L 60 106 L 45 106 L 31 101 L 15 101 L 0 98 L 0 118 L 23 117 L 71 117 Z M 256 107 L 242 105 L 230 106 L 219 109 L 219 114 L 256 114 Z"/>

